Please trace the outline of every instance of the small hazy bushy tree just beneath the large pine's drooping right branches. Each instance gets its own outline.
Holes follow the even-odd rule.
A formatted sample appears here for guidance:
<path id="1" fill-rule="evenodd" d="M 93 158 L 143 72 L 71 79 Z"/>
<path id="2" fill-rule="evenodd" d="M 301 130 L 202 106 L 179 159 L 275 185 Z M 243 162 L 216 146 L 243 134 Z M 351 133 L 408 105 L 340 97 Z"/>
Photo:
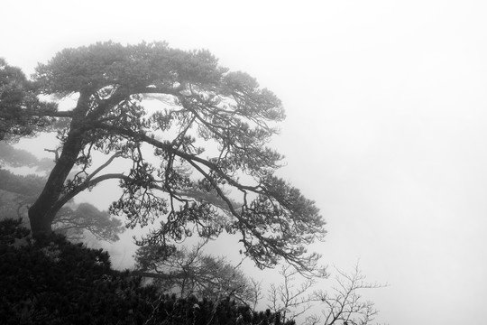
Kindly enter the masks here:
<path id="1" fill-rule="evenodd" d="M 218 302 L 231 298 L 250 306 L 261 295 L 259 283 L 243 274 L 239 265 L 231 265 L 225 257 L 207 255 L 206 241 L 192 249 L 186 246 L 141 246 L 135 255 L 134 274 L 152 278 L 154 283 L 180 297 L 196 295 Z"/>

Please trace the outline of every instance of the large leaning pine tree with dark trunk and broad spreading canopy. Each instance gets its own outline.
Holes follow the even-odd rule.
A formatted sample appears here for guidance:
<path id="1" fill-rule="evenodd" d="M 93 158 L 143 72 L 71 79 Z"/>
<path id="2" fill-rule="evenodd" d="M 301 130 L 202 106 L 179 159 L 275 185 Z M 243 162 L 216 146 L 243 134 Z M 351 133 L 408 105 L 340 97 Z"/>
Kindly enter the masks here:
<path id="1" fill-rule="evenodd" d="M 2 67 L 2 135 L 58 123 L 59 158 L 29 210 L 34 236 L 49 233 L 79 192 L 115 179 L 122 195 L 111 213 L 126 216 L 128 227 L 161 222 L 142 244 L 226 231 L 239 234 L 244 254 L 260 267 L 284 258 L 313 270 L 318 256 L 305 247 L 325 235 L 325 222 L 313 201 L 275 175 L 282 156 L 267 144 L 284 110 L 249 75 L 219 66 L 208 51 L 164 42 L 66 49 L 40 64 L 32 80 L 5 61 Z M 18 100 L 9 99 L 10 88 Z M 32 94 L 76 104 L 60 110 Z M 94 163 L 96 152 L 106 154 L 105 163 Z M 112 172 L 118 161 L 127 170 Z"/>

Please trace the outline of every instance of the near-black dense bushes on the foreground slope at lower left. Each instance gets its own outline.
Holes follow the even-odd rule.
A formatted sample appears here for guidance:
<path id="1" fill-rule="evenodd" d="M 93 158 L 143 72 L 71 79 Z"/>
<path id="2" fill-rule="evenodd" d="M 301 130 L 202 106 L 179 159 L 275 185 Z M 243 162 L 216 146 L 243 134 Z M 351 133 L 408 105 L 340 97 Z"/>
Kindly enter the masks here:
<path id="1" fill-rule="evenodd" d="M 230 300 L 164 294 L 112 269 L 102 250 L 59 235 L 32 240 L 20 220 L 0 222 L 0 274 L 3 324 L 280 324 Z"/>

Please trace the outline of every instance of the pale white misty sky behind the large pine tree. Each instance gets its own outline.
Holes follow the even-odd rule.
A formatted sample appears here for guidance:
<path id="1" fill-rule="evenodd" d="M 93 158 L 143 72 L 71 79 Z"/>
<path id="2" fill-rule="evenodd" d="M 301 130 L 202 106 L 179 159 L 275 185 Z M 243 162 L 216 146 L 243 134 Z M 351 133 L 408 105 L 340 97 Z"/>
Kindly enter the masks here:
<path id="1" fill-rule="evenodd" d="M 487 2 L 69 4 L 3 1 L 0 56 L 30 74 L 98 41 L 208 49 L 282 99 L 280 176 L 326 218 L 326 264 L 391 284 L 367 295 L 378 322 L 485 321 Z"/>

